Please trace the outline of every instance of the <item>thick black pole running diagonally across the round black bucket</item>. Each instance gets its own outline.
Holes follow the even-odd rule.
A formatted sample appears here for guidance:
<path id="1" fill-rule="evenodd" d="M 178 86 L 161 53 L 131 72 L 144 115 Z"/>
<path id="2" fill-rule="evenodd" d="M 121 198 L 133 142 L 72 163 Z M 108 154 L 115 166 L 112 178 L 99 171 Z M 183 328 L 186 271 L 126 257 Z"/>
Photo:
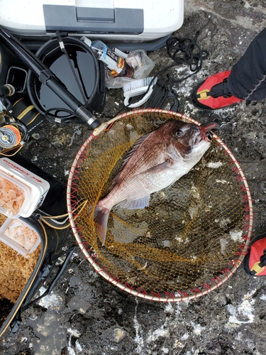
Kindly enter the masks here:
<path id="1" fill-rule="evenodd" d="M 82 119 L 82 121 L 87 123 L 92 129 L 96 129 L 96 127 L 101 125 L 101 122 L 96 119 L 94 114 L 89 112 L 89 110 L 87 110 L 84 105 L 67 90 L 65 84 L 63 84 L 51 72 L 51 70 L 31 52 L 31 50 L 1 27 L 0 40 L 38 77 L 38 80 L 40 80 L 42 84 L 49 87 L 57 97 L 60 97 L 60 99 L 62 99 L 62 101 L 65 102 L 65 104 L 67 104 L 67 106 L 70 107 L 80 119 Z"/>

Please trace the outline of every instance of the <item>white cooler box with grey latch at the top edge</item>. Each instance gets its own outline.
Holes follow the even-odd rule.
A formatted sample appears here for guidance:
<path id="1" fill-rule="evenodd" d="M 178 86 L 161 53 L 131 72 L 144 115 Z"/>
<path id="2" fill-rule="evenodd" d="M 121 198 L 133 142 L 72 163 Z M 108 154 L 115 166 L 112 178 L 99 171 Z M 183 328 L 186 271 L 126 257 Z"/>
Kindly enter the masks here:
<path id="1" fill-rule="evenodd" d="M 1 0 L 0 25 L 27 40 L 55 31 L 107 43 L 147 43 L 182 26 L 184 0 Z"/>

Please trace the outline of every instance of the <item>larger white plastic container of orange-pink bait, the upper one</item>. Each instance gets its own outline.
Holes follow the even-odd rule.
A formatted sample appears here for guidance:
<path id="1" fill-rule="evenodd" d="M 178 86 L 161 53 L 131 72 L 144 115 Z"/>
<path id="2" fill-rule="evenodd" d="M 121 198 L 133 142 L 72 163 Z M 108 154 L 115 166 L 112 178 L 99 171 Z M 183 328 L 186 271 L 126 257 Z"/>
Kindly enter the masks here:
<path id="1" fill-rule="evenodd" d="M 0 159 L 0 213 L 10 218 L 30 217 L 43 203 L 48 181 L 14 163 Z"/>

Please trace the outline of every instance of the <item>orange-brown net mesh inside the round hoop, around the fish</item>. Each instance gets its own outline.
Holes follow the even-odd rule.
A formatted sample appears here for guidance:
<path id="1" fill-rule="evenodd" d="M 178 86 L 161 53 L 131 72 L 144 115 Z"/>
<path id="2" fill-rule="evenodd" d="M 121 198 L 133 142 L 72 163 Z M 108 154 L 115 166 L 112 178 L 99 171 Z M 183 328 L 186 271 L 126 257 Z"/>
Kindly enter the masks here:
<path id="1" fill-rule="evenodd" d="M 109 192 L 128 150 L 166 119 L 188 121 L 161 111 L 136 112 L 85 143 L 74 167 L 71 199 L 72 206 L 88 201 L 74 224 L 99 268 L 131 289 L 176 294 L 219 279 L 245 245 L 246 187 L 216 139 L 187 175 L 151 195 L 149 207 L 113 207 L 104 246 L 94 226 L 96 203 Z"/>

